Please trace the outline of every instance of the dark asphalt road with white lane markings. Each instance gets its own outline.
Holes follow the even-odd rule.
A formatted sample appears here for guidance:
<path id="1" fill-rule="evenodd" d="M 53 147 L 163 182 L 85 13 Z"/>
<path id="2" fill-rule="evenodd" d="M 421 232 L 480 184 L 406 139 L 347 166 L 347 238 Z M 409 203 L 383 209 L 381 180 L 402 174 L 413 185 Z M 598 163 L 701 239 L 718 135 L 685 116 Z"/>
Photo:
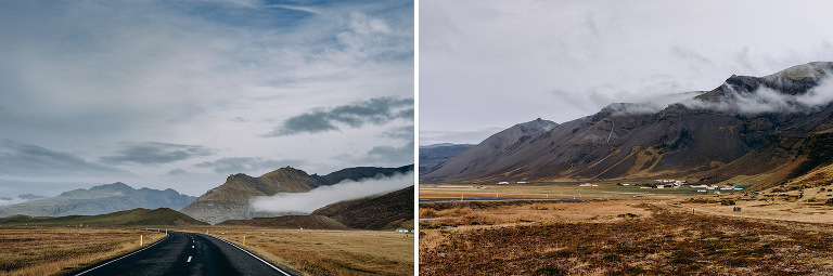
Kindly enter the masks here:
<path id="1" fill-rule="evenodd" d="M 168 237 L 132 254 L 77 275 L 291 275 L 221 239 L 169 232 Z"/>

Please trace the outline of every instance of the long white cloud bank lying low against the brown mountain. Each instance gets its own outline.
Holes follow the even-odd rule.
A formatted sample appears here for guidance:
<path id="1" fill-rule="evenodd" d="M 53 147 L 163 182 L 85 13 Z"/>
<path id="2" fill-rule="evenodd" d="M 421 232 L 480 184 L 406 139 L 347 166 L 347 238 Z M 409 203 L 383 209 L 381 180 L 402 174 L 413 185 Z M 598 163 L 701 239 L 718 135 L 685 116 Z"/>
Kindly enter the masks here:
<path id="1" fill-rule="evenodd" d="M 332 186 L 322 186 L 308 193 L 283 193 L 252 200 L 255 210 L 268 212 L 310 213 L 330 203 L 380 195 L 413 185 L 413 173 L 390 178 L 370 179 L 360 182 L 344 181 Z"/>

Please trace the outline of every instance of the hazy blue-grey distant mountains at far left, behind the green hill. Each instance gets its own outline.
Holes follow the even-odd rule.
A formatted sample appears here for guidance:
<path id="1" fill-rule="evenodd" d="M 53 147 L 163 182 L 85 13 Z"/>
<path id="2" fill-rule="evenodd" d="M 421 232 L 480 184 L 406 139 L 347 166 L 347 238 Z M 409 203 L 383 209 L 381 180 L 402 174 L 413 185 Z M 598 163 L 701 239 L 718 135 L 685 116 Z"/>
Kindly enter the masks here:
<path id="1" fill-rule="evenodd" d="M 196 199 L 170 188 L 165 190 L 134 189 L 121 182 L 94 186 L 89 189 L 79 188 L 64 192 L 56 197 L 24 196 L 36 199 L 2 206 L 0 207 L 0 216 L 13 214 L 30 216 L 94 215 L 136 208 L 180 209 Z"/>

